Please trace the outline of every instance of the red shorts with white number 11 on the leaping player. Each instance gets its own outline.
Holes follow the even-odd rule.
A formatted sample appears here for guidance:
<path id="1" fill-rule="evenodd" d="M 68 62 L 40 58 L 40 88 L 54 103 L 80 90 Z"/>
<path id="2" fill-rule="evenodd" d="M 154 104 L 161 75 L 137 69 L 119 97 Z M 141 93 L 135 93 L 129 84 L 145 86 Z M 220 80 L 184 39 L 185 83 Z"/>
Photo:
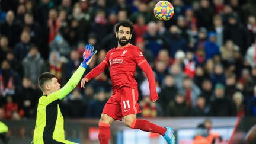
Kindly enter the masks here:
<path id="1" fill-rule="evenodd" d="M 115 89 L 104 106 L 103 114 L 122 121 L 124 116 L 140 113 L 139 103 L 137 103 L 138 98 L 137 89 L 130 87 Z"/>

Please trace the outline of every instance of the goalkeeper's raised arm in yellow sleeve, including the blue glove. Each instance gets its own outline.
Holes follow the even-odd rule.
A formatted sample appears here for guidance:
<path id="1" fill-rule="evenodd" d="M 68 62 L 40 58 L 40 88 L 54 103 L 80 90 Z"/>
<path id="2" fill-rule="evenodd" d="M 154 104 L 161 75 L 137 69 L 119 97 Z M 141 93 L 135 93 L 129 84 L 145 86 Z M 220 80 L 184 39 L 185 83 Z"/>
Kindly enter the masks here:
<path id="1" fill-rule="evenodd" d="M 69 92 L 71 92 L 76 87 L 95 53 L 97 53 L 97 50 L 94 51 L 94 46 L 91 46 L 91 44 L 85 47 L 85 52 L 83 55 L 84 61 L 81 62 L 80 66 L 78 67 L 78 69 L 76 69 L 75 73 L 73 73 L 66 85 L 59 89 L 59 91 L 55 92 L 60 100 L 66 97 L 66 95 L 68 95 Z"/>

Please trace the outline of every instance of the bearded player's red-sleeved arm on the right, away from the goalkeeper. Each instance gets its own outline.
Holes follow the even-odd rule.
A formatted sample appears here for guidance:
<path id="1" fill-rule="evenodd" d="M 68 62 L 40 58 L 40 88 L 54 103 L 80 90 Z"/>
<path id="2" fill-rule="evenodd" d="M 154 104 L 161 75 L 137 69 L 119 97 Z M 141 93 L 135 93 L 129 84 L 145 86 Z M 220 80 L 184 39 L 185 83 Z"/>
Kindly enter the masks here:
<path id="1" fill-rule="evenodd" d="M 141 50 L 139 47 L 135 49 L 135 52 L 133 53 L 133 59 L 137 63 L 137 65 L 142 69 L 142 71 L 146 74 L 149 82 L 149 90 L 151 98 L 151 101 L 155 102 L 158 100 L 158 93 L 156 92 L 156 86 L 155 86 L 155 75 L 151 69 L 151 66 L 146 61 L 145 57 L 143 56 Z"/>

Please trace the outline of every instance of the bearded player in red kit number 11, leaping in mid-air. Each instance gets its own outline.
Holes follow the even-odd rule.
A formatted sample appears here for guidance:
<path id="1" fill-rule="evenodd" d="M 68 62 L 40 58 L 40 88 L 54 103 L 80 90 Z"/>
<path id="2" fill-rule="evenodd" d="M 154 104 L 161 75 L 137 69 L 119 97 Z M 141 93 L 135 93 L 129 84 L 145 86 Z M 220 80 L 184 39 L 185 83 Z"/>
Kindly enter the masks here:
<path id="1" fill-rule="evenodd" d="M 113 84 L 113 94 L 104 106 L 101 114 L 98 139 L 100 144 L 109 143 L 110 124 L 114 120 L 124 119 L 124 124 L 132 129 L 140 129 L 146 132 L 159 133 L 168 143 L 174 144 L 174 131 L 171 127 L 160 127 L 148 120 L 136 119 L 140 113 L 138 101 L 137 82 L 134 78 L 138 65 L 146 73 L 149 81 L 150 95 L 153 102 L 158 100 L 155 87 L 155 78 L 151 66 L 146 61 L 140 48 L 129 43 L 132 38 L 133 24 L 130 21 L 120 21 L 116 25 L 117 48 L 109 50 L 103 62 L 97 65 L 81 81 L 84 88 L 85 82 L 100 75 L 110 67 L 110 77 Z"/>

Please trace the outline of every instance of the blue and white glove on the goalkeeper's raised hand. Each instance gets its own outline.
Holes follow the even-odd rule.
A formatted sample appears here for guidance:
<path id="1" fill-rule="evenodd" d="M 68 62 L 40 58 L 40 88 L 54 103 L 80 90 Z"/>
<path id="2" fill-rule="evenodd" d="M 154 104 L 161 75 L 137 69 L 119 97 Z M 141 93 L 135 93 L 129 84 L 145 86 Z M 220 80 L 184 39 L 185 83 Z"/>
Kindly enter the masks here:
<path id="1" fill-rule="evenodd" d="M 97 50 L 94 51 L 94 46 L 87 44 L 85 46 L 85 52 L 83 53 L 84 60 L 81 62 L 80 66 L 86 69 L 95 53 L 97 53 Z"/>

